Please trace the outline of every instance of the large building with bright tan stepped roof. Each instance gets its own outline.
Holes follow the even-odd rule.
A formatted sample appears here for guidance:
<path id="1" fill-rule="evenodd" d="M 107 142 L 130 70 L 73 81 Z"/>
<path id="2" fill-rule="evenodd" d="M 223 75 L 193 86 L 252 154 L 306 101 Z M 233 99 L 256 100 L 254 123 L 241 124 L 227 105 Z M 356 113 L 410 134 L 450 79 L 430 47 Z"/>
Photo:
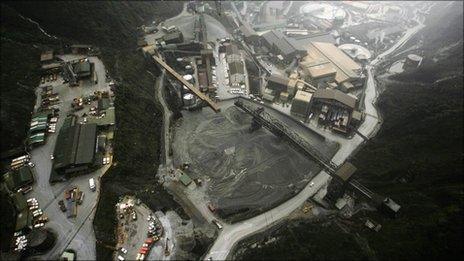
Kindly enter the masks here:
<path id="1" fill-rule="evenodd" d="M 307 75 L 306 80 L 314 85 L 334 82 L 340 89 L 351 91 L 362 84 L 361 66 L 331 43 L 310 43 L 300 67 Z"/>

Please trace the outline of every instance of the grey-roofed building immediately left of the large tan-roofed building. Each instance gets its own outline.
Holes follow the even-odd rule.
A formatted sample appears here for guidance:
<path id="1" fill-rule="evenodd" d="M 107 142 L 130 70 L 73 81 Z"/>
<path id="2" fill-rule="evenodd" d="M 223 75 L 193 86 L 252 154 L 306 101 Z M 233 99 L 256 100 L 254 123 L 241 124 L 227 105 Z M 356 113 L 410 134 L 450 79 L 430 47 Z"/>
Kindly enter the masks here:
<path id="1" fill-rule="evenodd" d="M 275 55 L 289 62 L 294 58 L 303 57 L 307 51 L 298 45 L 295 39 L 287 38 L 281 32 L 271 30 L 261 36 L 261 43 Z"/>

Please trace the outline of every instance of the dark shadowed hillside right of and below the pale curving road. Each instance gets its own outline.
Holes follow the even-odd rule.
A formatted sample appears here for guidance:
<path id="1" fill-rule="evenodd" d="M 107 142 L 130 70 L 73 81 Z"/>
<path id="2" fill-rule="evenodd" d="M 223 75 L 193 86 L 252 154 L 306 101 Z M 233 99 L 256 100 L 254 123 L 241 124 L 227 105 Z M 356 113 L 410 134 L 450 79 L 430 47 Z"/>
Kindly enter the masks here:
<path id="1" fill-rule="evenodd" d="M 401 204 L 400 217 L 364 212 L 350 220 L 294 222 L 248 240 L 280 239 L 241 248 L 238 258 L 278 260 L 289 252 L 294 259 L 462 258 L 462 3 L 442 11 L 416 38 L 424 40 L 422 66 L 381 83 L 382 128 L 352 158 L 356 178 Z M 365 228 L 366 218 L 382 224 L 380 232 Z"/>

